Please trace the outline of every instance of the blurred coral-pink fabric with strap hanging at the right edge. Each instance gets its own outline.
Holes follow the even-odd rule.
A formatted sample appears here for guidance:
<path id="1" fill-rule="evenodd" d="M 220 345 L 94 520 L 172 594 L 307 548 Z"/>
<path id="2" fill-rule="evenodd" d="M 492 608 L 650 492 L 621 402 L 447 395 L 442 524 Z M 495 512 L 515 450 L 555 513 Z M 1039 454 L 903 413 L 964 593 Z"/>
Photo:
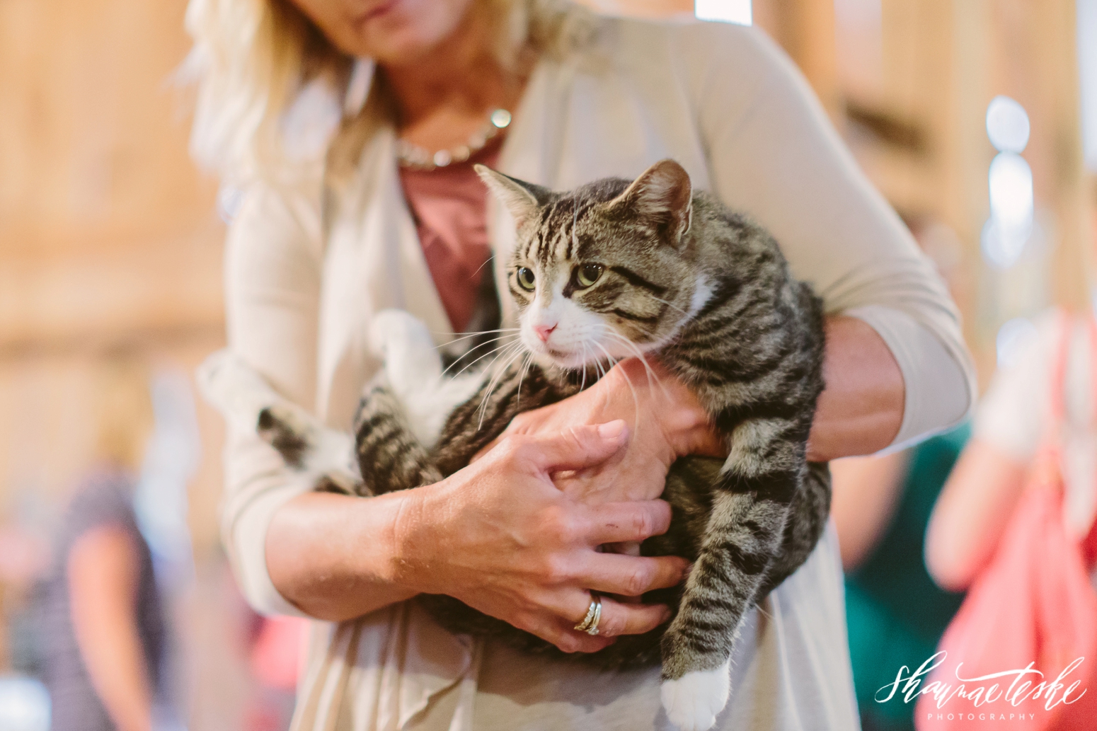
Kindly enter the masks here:
<path id="1" fill-rule="evenodd" d="M 1097 527 L 1078 541 L 1063 519 L 1059 440 L 1070 344 L 1070 320 L 1063 320 L 1051 371 L 1053 416 L 1048 436 L 994 558 L 972 584 L 937 648 L 947 655 L 919 688 L 926 695 L 915 709 L 918 731 L 999 728 L 988 722 L 1005 720 L 1003 713 L 1009 716 L 1009 728 L 1020 731 L 1097 728 L 1097 593 L 1089 582 Z M 1097 351 L 1097 329 L 1093 323 L 1089 326 Z M 1049 689 L 1077 659 L 1083 659 L 1081 664 L 1062 685 Z M 1008 674 L 1029 663 L 1044 675 Z M 928 695 L 935 682 L 938 689 L 943 686 L 939 698 Z M 1078 686 L 1068 702 L 1062 702 L 1063 689 L 1075 682 Z M 986 691 L 977 694 L 976 701 L 959 696 L 961 686 L 964 694 Z M 1009 694 L 1015 694 L 1015 702 Z"/>

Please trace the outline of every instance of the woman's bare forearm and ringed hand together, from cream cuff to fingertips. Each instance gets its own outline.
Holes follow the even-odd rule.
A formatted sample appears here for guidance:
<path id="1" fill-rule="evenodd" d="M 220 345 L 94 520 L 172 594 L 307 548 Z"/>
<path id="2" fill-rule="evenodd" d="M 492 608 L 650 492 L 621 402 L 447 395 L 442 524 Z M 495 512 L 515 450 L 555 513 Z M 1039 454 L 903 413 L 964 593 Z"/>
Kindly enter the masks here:
<path id="1" fill-rule="evenodd" d="M 566 652 L 592 652 L 615 636 L 646 632 L 665 621 L 666 607 L 603 598 L 599 637 L 572 627 L 587 611 L 588 589 L 640 596 L 681 580 L 682 559 L 597 550 L 664 532 L 669 506 L 584 501 L 552 481 L 556 472 L 606 462 L 626 439 L 620 421 L 512 436 L 434 485 L 372 498 L 301 495 L 268 530 L 271 578 L 323 619 L 349 619 L 428 593 L 454 596 Z M 661 487 L 661 479 L 646 482 Z"/>

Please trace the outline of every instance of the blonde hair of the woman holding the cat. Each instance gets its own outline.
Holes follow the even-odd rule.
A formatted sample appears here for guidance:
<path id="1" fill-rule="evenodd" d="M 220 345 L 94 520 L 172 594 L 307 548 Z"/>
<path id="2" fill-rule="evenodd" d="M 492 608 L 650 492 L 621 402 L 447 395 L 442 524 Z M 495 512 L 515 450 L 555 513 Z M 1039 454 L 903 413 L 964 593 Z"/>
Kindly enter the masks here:
<path id="1" fill-rule="evenodd" d="M 568 0 L 474 1 L 498 21 L 496 50 L 505 65 L 527 52 L 562 55 L 589 35 L 579 30 L 591 25 L 589 14 Z M 190 0 L 185 24 L 194 46 L 183 77 L 197 83 L 194 158 L 236 182 L 293 176 L 281 128 L 286 112 L 314 81 L 342 109 L 338 94 L 353 59 L 290 0 Z"/>

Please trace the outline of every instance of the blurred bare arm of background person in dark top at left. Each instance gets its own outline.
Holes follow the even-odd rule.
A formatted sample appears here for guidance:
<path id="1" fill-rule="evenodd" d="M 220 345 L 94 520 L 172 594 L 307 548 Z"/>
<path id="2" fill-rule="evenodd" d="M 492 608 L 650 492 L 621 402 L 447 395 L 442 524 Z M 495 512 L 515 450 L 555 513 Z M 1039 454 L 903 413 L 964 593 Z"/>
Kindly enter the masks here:
<path id="1" fill-rule="evenodd" d="M 72 628 L 80 657 L 118 731 L 148 731 L 152 694 L 137 632 L 137 551 L 117 526 L 93 528 L 69 550 Z"/>

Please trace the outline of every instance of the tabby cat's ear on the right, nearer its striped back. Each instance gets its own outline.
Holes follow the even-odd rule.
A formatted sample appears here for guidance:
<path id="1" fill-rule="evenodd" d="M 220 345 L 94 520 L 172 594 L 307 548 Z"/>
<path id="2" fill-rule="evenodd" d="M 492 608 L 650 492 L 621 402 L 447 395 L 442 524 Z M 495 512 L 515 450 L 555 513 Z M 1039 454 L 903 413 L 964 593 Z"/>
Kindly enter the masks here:
<path id="1" fill-rule="evenodd" d="M 693 185 L 686 168 L 671 159 L 659 160 L 609 205 L 611 211 L 648 221 L 661 238 L 678 248 L 685 243 L 693 216 Z"/>

